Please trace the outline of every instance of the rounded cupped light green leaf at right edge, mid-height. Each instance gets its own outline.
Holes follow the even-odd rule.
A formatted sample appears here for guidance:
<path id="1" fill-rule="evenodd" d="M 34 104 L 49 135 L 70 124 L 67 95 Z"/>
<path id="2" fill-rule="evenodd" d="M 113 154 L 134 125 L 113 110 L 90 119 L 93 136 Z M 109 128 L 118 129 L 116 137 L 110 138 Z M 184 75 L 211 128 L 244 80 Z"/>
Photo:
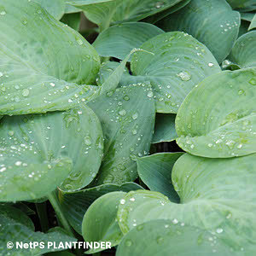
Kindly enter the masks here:
<path id="1" fill-rule="evenodd" d="M 177 113 L 178 145 L 205 157 L 256 152 L 256 69 L 224 71 L 205 79 Z"/>

